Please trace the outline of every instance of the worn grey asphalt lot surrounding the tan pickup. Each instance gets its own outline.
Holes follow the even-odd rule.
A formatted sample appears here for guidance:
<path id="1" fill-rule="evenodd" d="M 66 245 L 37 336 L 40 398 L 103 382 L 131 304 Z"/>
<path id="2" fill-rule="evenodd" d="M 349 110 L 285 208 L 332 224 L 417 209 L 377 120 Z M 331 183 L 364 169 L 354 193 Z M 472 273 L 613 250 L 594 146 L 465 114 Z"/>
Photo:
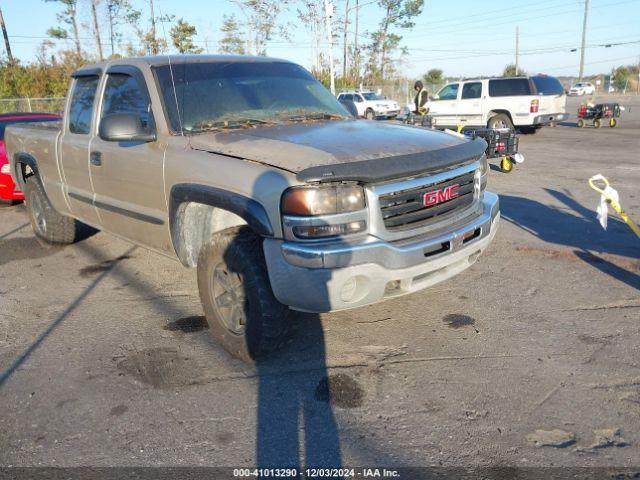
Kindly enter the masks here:
<path id="1" fill-rule="evenodd" d="M 615 129 L 577 103 L 492 169 L 475 266 L 300 315 L 256 366 L 209 339 L 195 271 L 104 233 L 44 248 L 0 210 L 0 465 L 639 467 L 640 239 L 602 230 L 587 179 L 640 220 L 640 98 Z"/>

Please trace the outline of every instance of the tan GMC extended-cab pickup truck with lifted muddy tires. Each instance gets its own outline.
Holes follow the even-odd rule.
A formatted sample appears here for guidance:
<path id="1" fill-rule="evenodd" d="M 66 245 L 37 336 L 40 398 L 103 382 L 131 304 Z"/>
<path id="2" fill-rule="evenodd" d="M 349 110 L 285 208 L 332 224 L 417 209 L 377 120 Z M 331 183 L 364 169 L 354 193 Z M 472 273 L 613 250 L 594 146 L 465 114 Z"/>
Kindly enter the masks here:
<path id="1" fill-rule="evenodd" d="M 83 224 L 197 268 L 210 331 L 252 360 L 291 310 L 422 290 L 491 242 L 484 140 L 358 120 L 305 69 L 244 56 L 118 59 L 73 74 L 62 122 L 7 128 L 35 234 Z"/>

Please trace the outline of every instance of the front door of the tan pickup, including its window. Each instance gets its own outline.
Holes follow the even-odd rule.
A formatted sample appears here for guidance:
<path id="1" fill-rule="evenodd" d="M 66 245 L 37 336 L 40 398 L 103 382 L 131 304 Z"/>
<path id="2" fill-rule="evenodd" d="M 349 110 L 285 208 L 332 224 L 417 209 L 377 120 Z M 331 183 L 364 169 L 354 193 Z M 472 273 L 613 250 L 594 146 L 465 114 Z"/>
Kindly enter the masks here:
<path id="1" fill-rule="evenodd" d="M 98 118 L 118 113 L 135 113 L 143 125 L 155 128 L 146 83 L 135 67 L 107 70 Z M 160 251 L 171 245 L 163 179 L 165 149 L 159 141 L 105 141 L 96 135 L 89 152 L 94 204 L 103 227 Z"/>

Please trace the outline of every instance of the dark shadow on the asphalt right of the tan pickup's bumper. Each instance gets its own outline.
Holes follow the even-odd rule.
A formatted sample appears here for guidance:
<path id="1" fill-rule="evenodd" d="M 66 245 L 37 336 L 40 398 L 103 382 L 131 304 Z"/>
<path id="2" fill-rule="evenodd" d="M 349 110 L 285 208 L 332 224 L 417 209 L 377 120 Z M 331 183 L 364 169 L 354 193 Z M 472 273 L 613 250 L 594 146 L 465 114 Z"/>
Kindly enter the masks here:
<path id="1" fill-rule="evenodd" d="M 640 271 L 640 250 L 627 225 L 610 216 L 608 228 L 603 230 L 596 219 L 595 208 L 585 208 L 566 193 L 552 189 L 545 191 L 563 203 L 566 209 L 528 198 L 500 195 L 502 218 L 544 242 L 573 248 L 575 258 L 640 290 L 640 275 L 636 273 Z M 632 260 L 624 262 L 628 268 L 623 268 L 596 253 Z"/>

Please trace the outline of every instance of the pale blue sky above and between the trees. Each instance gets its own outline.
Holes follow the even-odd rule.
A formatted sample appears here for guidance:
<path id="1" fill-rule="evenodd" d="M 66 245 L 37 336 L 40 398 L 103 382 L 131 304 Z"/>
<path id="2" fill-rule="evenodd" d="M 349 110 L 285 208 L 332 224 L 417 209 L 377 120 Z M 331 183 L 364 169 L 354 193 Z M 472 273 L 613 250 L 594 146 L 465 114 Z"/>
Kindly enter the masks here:
<path id="1" fill-rule="evenodd" d="M 79 0 L 86 7 L 88 0 Z M 132 0 L 147 15 L 147 2 Z M 341 10 L 344 0 L 334 0 Z M 350 1 L 351 5 L 355 0 Z M 371 0 L 360 0 L 360 43 L 366 32 L 376 28 L 380 9 Z M 35 58 L 38 43 L 46 38 L 49 27 L 57 25 L 56 3 L 43 0 L 0 0 L 14 56 L 23 61 Z M 222 14 L 240 12 L 226 0 L 156 0 L 157 13 L 176 15 L 198 29 L 197 42 L 216 53 L 220 39 Z M 514 61 L 515 31 L 520 29 L 520 65 L 529 73 L 577 75 L 580 59 L 584 1 L 580 0 L 426 0 L 416 19 L 416 27 L 402 33 L 402 44 L 409 55 L 402 70 L 410 77 L 430 68 L 445 75 L 476 76 L 502 72 Z M 82 9 L 81 21 L 89 24 L 88 9 Z M 351 12 L 353 15 L 353 11 Z M 283 22 L 299 24 L 295 9 L 282 15 Z M 168 35 L 167 26 L 167 35 Z M 350 27 L 353 31 L 353 24 Z M 104 33 L 106 37 L 106 24 Z M 159 35 L 162 36 L 162 28 Z M 85 29 L 83 48 L 95 50 Z M 132 37 L 131 33 L 125 33 Z M 353 37 L 351 37 L 353 38 Z M 268 44 L 270 56 L 286 58 L 306 67 L 311 64 L 311 37 L 300 27 L 292 30 L 291 41 L 274 38 Z M 615 45 L 617 43 L 627 43 Z M 106 38 L 104 39 L 106 43 Z M 603 44 L 613 44 L 606 48 Z M 612 67 L 640 61 L 640 0 L 590 0 L 587 29 L 585 73 L 608 72 Z M 326 46 L 323 45 L 323 46 Z M 4 49 L 2 48 L 4 54 Z M 108 52 L 108 49 L 106 49 Z M 335 56 L 341 58 L 341 39 Z"/>

